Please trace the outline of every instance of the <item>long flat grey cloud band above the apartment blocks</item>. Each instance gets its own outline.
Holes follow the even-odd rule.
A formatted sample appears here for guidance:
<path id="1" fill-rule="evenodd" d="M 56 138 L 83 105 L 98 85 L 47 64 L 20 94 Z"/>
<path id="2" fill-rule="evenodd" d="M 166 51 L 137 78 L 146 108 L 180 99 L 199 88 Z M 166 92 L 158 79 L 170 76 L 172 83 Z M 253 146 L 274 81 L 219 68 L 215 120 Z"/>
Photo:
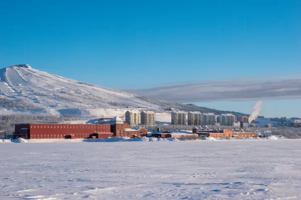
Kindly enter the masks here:
<path id="1" fill-rule="evenodd" d="M 174 82 L 151 88 L 126 89 L 126 91 L 174 102 L 301 98 L 301 78 L 248 77 Z"/>

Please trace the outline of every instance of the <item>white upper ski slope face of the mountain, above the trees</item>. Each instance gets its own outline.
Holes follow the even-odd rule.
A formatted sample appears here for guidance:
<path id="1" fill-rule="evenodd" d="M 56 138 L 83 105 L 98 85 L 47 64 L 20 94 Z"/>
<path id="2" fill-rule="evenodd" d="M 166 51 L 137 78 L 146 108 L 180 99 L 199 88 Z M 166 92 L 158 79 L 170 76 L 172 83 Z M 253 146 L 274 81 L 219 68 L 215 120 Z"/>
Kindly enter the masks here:
<path id="1" fill-rule="evenodd" d="M 45 112 L 79 112 L 99 108 L 139 106 L 159 108 L 135 94 L 79 82 L 27 67 L 0 69 L 0 96 L 22 99 Z M 32 110 L 31 110 L 32 111 Z M 89 111 L 88 111 L 89 112 Z"/>

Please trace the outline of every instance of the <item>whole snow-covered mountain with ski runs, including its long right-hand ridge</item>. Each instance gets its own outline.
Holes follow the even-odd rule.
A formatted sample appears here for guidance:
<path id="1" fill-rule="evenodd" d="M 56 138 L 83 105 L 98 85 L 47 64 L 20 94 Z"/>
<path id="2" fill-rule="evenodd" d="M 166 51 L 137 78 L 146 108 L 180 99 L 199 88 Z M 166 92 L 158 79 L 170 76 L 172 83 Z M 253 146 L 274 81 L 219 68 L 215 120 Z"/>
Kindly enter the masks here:
<path id="1" fill-rule="evenodd" d="M 29 65 L 14 65 L 0 69 L 0 114 L 30 112 L 54 115 L 122 116 L 127 106 L 157 110 L 174 107 L 217 114 L 229 112 L 193 104 L 150 99 L 72 80 L 31 68 Z M 170 121 L 170 116 L 165 121 Z"/>

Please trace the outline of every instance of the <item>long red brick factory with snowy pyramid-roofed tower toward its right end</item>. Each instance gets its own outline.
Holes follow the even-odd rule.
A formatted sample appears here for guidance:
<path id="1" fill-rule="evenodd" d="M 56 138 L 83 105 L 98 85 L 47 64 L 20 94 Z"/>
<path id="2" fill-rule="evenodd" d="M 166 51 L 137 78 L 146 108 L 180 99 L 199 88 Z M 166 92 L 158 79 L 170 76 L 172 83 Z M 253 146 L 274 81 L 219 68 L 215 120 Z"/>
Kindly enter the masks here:
<path id="1" fill-rule="evenodd" d="M 120 119 L 118 116 L 115 116 L 111 118 L 111 120 L 105 121 L 101 124 L 15 124 L 15 137 L 22 137 L 25 139 L 104 138 L 108 136 L 133 137 L 145 134 L 144 129 L 132 129 L 129 124 L 123 123 L 122 119 Z"/>

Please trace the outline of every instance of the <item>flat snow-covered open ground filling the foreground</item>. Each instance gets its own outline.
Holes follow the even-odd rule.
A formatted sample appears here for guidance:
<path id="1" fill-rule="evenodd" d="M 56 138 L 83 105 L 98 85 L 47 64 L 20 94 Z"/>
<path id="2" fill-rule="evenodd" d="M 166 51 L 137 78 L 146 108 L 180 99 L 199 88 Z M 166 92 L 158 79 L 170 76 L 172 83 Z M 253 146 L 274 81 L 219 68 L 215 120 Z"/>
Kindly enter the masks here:
<path id="1" fill-rule="evenodd" d="M 0 145 L 0 199 L 301 199 L 299 139 Z"/>

